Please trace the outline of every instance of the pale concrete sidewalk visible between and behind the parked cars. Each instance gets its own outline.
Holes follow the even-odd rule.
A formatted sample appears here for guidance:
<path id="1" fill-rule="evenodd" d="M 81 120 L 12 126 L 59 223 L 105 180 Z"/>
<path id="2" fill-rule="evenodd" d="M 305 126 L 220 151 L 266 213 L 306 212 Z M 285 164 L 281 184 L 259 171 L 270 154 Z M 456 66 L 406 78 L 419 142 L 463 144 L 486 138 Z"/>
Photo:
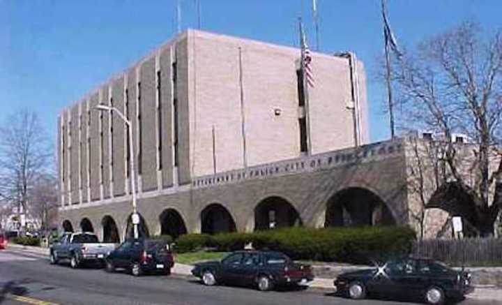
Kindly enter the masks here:
<path id="1" fill-rule="evenodd" d="M 30 253 L 33 255 L 43 255 L 43 256 L 48 256 L 49 255 L 49 249 L 48 248 L 40 248 L 40 247 L 34 247 L 34 246 L 21 246 L 17 244 L 8 244 L 7 246 L 8 250 L 13 250 L 13 251 L 22 251 L 24 253 Z M 179 264 L 175 263 L 174 267 L 172 269 L 172 274 L 176 274 L 179 276 L 192 276 L 192 267 L 191 265 L 184 265 L 184 264 Z M 350 265 L 343 265 L 339 267 L 335 266 L 330 266 L 330 269 L 335 269 L 337 272 L 341 273 L 344 271 L 349 271 L 349 270 L 354 270 L 354 269 L 363 269 L 366 267 L 363 266 L 350 266 Z M 455 268 L 457 269 L 457 268 Z M 472 271 L 491 271 L 494 269 L 494 271 L 501 271 L 501 267 L 490 267 L 490 268 L 469 268 L 469 270 Z M 333 270 L 332 270 L 333 271 Z M 321 277 L 316 277 L 314 278 L 314 281 L 310 282 L 309 284 L 310 288 L 316 288 L 316 289 L 321 289 L 321 290 L 329 290 L 329 291 L 334 291 L 333 288 L 333 278 L 321 278 Z M 502 302 L 502 289 L 497 288 L 494 285 L 474 285 L 475 290 L 469 295 L 466 295 L 467 299 L 479 299 L 482 301 L 490 301 L 490 302 Z"/>

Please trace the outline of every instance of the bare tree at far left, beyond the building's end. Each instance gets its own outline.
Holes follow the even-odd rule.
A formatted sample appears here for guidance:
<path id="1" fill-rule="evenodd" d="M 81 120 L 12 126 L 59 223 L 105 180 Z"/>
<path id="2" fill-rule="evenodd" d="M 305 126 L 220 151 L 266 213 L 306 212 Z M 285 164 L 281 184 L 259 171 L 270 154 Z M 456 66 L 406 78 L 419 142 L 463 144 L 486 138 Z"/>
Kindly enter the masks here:
<path id="1" fill-rule="evenodd" d="M 25 213 L 36 177 L 50 168 L 52 150 L 33 112 L 8 117 L 0 127 L 0 193 Z"/>

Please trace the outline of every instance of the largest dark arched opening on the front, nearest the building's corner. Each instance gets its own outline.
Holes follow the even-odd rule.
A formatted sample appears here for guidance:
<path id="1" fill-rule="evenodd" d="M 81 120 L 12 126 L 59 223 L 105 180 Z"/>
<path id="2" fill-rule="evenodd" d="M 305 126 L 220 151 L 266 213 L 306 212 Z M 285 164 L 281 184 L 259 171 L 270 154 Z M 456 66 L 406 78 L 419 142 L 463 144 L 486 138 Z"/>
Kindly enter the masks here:
<path id="1" fill-rule="evenodd" d="M 395 225 L 393 214 L 378 195 L 366 188 L 347 188 L 326 204 L 325 227 Z"/>

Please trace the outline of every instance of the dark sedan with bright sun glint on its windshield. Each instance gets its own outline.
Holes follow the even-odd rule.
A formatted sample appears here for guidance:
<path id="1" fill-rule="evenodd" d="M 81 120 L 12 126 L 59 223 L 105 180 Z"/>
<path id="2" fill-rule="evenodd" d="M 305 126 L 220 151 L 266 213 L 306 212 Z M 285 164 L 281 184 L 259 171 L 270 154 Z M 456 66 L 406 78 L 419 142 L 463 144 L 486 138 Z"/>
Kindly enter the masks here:
<path id="1" fill-rule="evenodd" d="M 347 272 L 335 278 L 334 285 L 351 299 L 375 294 L 417 297 L 428 304 L 443 304 L 473 291 L 469 272 L 455 271 L 428 258 L 390 260 L 382 267 Z"/>

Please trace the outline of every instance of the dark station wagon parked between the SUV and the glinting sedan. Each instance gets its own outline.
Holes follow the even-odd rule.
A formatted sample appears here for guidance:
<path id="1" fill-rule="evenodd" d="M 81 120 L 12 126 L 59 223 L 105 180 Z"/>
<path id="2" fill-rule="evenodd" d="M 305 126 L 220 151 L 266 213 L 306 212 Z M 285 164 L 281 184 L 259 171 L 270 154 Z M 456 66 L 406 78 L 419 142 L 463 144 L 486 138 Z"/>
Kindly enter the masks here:
<path id="1" fill-rule="evenodd" d="M 272 251 L 236 251 L 221 261 L 196 264 L 192 274 L 208 286 L 232 283 L 252 285 L 261 291 L 314 279 L 310 265 L 297 264 L 287 255 Z"/>

